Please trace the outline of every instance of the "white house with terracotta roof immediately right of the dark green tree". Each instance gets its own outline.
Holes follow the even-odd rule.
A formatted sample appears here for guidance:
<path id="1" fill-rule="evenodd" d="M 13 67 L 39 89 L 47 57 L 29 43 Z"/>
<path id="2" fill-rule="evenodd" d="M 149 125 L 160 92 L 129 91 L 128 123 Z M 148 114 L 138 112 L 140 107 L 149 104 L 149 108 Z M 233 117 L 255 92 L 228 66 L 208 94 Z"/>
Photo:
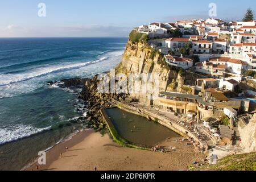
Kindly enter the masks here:
<path id="1" fill-rule="evenodd" d="M 212 44 L 213 43 L 208 40 L 193 40 L 193 53 L 212 53 Z"/>

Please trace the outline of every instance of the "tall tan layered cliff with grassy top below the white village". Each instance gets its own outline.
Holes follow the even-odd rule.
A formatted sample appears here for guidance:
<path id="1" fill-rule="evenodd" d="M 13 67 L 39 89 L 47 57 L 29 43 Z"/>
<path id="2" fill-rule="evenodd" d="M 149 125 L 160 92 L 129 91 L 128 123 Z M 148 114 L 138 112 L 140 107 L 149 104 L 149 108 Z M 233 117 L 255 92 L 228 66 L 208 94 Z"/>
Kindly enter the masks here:
<path id="1" fill-rule="evenodd" d="M 178 91 L 192 93 L 192 88 L 183 85 L 195 86 L 196 79 L 201 78 L 195 73 L 185 72 L 181 68 L 168 65 L 162 53 L 148 46 L 147 38 L 134 31 L 130 34 L 125 53 L 121 63 L 116 68 L 116 73 L 125 73 L 126 75 L 131 73 L 151 73 L 152 75 L 158 75 L 159 92 Z M 150 77 L 148 77 L 148 80 L 150 80 Z M 152 86 L 155 86 L 154 82 L 152 84 Z M 150 101 L 148 99 L 150 94 L 137 93 L 130 94 L 130 96 L 139 99 L 140 102 L 145 104 Z"/>

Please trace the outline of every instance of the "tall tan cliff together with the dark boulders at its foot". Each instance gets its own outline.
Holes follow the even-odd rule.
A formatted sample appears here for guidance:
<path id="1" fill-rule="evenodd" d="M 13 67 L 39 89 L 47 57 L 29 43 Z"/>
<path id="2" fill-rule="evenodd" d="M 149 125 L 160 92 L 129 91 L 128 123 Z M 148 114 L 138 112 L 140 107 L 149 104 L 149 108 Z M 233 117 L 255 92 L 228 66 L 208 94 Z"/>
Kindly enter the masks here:
<path id="1" fill-rule="evenodd" d="M 159 78 L 159 92 L 193 92 L 193 89 L 185 87 L 183 84 L 195 85 L 196 78 L 199 76 L 195 73 L 185 72 L 181 68 L 171 67 L 168 65 L 164 60 L 162 53 L 148 46 L 147 40 L 148 37 L 146 34 L 140 34 L 136 31 L 131 32 L 121 63 L 115 68 L 115 74 L 118 75 L 119 73 L 122 73 L 129 76 L 133 73 L 144 73 L 145 75 L 151 73 L 152 75 L 157 75 Z M 154 82 L 151 77 L 147 77 L 147 80 L 154 88 L 156 82 Z M 97 75 L 92 79 L 86 78 L 79 80 L 78 78 L 75 78 L 65 80 L 64 82 L 68 87 L 72 85 L 84 85 L 80 98 L 88 102 L 88 113 L 86 120 L 90 121 L 89 125 L 93 126 L 96 130 L 104 128 L 104 123 L 102 122 L 102 117 L 99 111 L 102 107 L 109 107 L 111 105 L 111 98 L 118 101 L 123 101 L 126 100 L 127 97 L 130 97 L 137 98 L 144 104 L 154 104 L 152 103 L 154 101 L 150 100 L 149 98 L 151 97 L 151 94 L 145 94 L 141 88 L 135 88 L 137 91 L 139 91 L 128 94 L 99 93 L 97 90 L 99 84 Z"/>

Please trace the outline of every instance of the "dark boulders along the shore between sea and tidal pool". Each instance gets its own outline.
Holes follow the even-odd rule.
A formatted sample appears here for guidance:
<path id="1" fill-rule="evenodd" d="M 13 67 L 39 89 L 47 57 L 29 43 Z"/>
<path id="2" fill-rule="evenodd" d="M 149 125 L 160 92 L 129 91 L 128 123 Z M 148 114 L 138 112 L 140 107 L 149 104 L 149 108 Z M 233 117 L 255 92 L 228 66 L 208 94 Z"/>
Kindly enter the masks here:
<path id="1" fill-rule="evenodd" d="M 48 82 L 48 85 L 57 84 L 61 88 L 68 89 L 82 89 L 77 99 L 84 102 L 84 107 L 77 108 L 79 110 L 86 110 L 84 116 L 77 119 L 75 122 L 86 123 L 86 126 L 101 131 L 106 127 L 103 121 L 100 110 L 104 107 L 111 107 L 110 102 L 112 98 L 117 101 L 124 101 L 125 94 L 102 94 L 97 91 L 97 76 L 93 78 L 70 78 L 61 80 L 60 82 Z M 74 121 L 72 121 L 74 122 Z"/>

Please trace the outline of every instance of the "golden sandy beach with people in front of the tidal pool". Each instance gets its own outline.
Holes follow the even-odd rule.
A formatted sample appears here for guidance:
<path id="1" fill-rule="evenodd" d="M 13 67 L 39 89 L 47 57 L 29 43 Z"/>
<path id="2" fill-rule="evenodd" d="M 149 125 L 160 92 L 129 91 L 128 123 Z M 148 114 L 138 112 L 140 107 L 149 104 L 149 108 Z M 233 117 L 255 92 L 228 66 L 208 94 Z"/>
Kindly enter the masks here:
<path id="1" fill-rule="evenodd" d="M 151 152 L 125 148 L 114 143 L 108 134 L 103 137 L 94 131 L 83 131 L 67 142 L 58 144 L 47 153 L 47 165 L 39 170 L 53 171 L 122 171 L 122 170 L 186 170 L 194 161 L 204 155 L 185 142 L 163 142 L 161 146 L 173 146 L 176 150 L 168 153 Z M 65 150 L 65 147 L 68 150 Z M 62 157 L 61 154 L 62 153 Z M 27 170 L 37 170 L 33 164 Z"/>

